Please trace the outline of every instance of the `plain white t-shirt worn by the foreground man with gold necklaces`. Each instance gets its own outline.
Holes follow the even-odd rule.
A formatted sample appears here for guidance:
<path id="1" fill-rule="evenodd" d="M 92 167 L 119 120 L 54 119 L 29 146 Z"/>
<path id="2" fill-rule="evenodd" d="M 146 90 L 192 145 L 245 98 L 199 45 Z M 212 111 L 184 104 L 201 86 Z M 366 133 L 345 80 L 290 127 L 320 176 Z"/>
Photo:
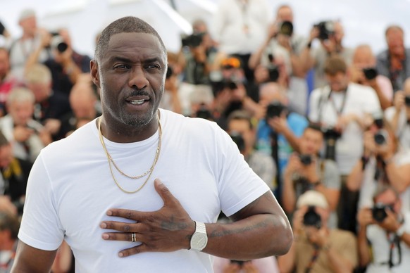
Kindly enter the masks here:
<path id="1" fill-rule="evenodd" d="M 133 194 L 120 191 L 113 182 L 95 120 L 44 148 L 30 174 L 19 239 L 43 250 L 55 250 L 65 239 L 75 255 L 75 272 L 212 272 L 206 253 L 178 250 L 119 258 L 120 250 L 137 243 L 101 239 L 107 231 L 99 227 L 101 221 L 116 220 L 106 215 L 109 208 L 162 207 L 154 189 L 156 178 L 192 220 L 206 223 L 216 222 L 220 210 L 232 215 L 269 190 L 216 123 L 161 109 L 161 125 L 158 163 L 147 184 Z M 120 169 L 137 175 L 151 167 L 158 138 L 156 132 L 135 143 L 104 142 Z M 144 182 L 127 179 L 115 169 L 114 175 L 129 191 Z"/>

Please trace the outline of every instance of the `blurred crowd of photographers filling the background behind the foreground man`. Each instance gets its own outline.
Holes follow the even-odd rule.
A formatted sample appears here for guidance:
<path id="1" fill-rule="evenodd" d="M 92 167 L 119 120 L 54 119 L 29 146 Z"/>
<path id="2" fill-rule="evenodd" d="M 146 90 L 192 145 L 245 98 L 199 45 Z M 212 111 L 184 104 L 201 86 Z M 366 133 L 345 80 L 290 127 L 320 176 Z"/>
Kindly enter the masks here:
<path id="1" fill-rule="evenodd" d="M 225 129 L 294 231 L 287 255 L 215 258 L 215 272 L 410 272 L 404 31 L 380 30 L 385 50 L 375 53 L 344 46 L 338 20 L 318 18 L 304 34 L 293 24 L 291 6 L 222 0 L 211 25 L 195 20 L 180 51 L 168 52 L 160 107 Z M 18 25 L 21 37 L 0 23 L 0 272 L 13 262 L 37 155 L 101 115 L 91 58 L 68 30 L 42 29 L 30 9 Z M 63 243 L 53 272 L 72 264 Z"/>

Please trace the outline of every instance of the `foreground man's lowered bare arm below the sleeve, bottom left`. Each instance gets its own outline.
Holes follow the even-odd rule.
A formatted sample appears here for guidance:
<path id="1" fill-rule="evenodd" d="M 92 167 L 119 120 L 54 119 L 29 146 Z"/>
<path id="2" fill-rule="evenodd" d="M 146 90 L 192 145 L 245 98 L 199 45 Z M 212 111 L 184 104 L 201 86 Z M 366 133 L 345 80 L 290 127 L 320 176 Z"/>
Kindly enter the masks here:
<path id="1" fill-rule="evenodd" d="M 18 242 L 17 252 L 11 272 L 44 273 L 50 272 L 57 250 L 47 251 L 33 248 L 23 241 Z"/>

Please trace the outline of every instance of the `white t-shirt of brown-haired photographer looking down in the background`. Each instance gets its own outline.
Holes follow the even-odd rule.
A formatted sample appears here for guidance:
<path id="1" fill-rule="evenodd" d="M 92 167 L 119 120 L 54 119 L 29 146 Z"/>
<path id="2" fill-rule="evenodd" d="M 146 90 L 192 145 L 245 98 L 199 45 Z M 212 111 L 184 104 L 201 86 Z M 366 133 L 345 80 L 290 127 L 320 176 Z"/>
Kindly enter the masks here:
<path id="1" fill-rule="evenodd" d="M 340 109 L 341 115 L 354 113 L 360 118 L 366 113 L 381 112 L 378 97 L 371 87 L 350 83 L 345 94 L 333 91 L 329 96 L 329 93 L 328 86 L 313 90 L 309 107 L 311 122 L 322 122 L 325 127 L 333 127 L 339 118 L 337 111 Z M 349 174 L 362 153 L 363 131 L 356 122 L 350 122 L 336 142 L 336 163 L 340 174 Z"/>

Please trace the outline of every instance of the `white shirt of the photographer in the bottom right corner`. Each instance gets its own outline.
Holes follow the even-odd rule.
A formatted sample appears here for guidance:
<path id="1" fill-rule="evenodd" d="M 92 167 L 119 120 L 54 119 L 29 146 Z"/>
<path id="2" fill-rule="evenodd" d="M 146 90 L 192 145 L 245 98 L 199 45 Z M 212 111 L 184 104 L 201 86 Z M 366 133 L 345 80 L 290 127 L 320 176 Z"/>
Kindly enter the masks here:
<path id="1" fill-rule="evenodd" d="M 404 215 L 405 231 L 410 233 L 410 215 L 409 213 Z M 400 241 L 400 248 L 402 251 L 402 262 L 399 263 L 399 252 L 395 245 L 392 249 L 392 262 L 393 265 L 389 270 L 388 265 L 381 265 L 382 263 L 389 261 L 390 256 L 390 242 L 387 241 L 386 231 L 379 227 L 377 224 L 371 224 L 367 227 L 366 236 L 372 244 L 373 250 L 373 262 L 368 265 L 367 273 L 408 273 L 410 272 L 410 248 L 403 241 Z"/>

